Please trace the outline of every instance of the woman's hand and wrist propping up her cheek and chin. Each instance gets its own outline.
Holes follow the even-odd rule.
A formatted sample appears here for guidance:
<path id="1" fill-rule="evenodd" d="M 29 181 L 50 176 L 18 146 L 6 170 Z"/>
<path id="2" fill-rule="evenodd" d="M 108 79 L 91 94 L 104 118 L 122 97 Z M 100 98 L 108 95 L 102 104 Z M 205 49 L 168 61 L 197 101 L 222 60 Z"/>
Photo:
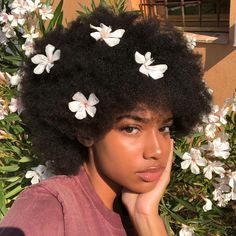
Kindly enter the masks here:
<path id="1" fill-rule="evenodd" d="M 173 140 L 167 165 L 156 186 L 146 193 L 132 193 L 123 190 L 122 201 L 126 206 L 130 218 L 139 235 L 167 235 L 165 226 L 159 216 L 158 208 L 161 198 L 170 181 L 171 167 L 173 163 Z"/>

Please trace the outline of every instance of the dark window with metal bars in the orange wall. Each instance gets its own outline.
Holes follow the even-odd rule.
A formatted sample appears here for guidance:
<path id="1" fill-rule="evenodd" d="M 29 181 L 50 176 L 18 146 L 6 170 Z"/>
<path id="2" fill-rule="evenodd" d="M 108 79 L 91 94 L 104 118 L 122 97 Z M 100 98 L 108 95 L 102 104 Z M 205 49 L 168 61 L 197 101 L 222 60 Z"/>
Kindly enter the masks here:
<path id="1" fill-rule="evenodd" d="M 189 32 L 228 32 L 230 0 L 141 0 L 144 17 L 168 19 Z"/>

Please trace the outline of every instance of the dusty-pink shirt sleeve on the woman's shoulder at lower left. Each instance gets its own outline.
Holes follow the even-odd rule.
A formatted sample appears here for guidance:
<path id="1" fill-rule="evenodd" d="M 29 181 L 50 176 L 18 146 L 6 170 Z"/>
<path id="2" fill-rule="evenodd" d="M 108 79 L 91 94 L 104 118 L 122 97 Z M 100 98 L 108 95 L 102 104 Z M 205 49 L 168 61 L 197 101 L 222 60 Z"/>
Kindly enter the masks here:
<path id="1" fill-rule="evenodd" d="M 16 235 L 12 228 L 19 230 L 17 235 L 64 236 L 63 209 L 57 196 L 42 186 L 23 191 L 0 223 L 0 235 Z"/>

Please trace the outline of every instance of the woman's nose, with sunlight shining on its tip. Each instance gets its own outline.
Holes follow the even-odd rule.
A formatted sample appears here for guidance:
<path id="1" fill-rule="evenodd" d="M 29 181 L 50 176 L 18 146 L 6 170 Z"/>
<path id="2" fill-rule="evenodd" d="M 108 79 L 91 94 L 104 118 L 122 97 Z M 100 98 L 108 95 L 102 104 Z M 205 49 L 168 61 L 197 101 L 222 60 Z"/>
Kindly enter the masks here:
<path id="1" fill-rule="evenodd" d="M 161 154 L 161 136 L 156 130 L 152 130 L 146 136 L 143 158 L 159 159 Z"/>

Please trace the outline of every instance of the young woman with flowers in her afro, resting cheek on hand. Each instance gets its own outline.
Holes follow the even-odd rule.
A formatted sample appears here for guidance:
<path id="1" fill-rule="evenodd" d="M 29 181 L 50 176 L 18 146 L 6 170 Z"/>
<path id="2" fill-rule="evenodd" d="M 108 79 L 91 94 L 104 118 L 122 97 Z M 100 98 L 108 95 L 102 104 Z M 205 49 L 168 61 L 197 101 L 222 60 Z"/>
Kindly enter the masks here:
<path id="1" fill-rule="evenodd" d="M 189 133 L 211 100 L 183 35 L 98 8 L 37 41 L 22 73 L 33 149 L 57 175 L 19 195 L 1 235 L 167 235 L 171 133 Z"/>

